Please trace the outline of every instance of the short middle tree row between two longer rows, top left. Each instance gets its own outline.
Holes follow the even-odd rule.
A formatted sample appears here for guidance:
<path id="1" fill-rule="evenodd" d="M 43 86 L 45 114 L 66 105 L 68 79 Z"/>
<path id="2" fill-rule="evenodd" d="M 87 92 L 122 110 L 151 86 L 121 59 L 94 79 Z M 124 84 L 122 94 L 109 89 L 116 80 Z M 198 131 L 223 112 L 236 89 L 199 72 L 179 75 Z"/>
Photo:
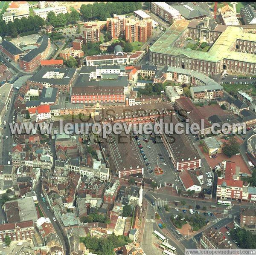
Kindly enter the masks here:
<path id="1" fill-rule="evenodd" d="M 65 14 L 59 13 L 57 16 L 55 12 L 50 11 L 47 14 L 47 21 L 50 25 L 54 27 L 66 26 L 70 23 L 77 23 L 80 20 L 80 14 L 75 9 L 71 13 L 67 12 Z"/>

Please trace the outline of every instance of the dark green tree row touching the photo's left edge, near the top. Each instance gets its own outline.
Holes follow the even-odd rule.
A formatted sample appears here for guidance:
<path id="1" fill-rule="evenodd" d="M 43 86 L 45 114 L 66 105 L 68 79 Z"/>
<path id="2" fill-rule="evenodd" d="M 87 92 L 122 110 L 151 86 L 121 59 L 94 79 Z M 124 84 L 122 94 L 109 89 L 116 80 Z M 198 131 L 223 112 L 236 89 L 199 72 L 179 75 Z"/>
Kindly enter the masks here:
<path id="1" fill-rule="evenodd" d="M 44 19 L 39 16 L 22 17 L 20 20 L 15 19 L 6 24 L 3 20 L 0 21 L 0 36 L 5 37 L 10 35 L 17 37 L 18 34 L 27 32 L 37 32 L 45 25 Z"/>

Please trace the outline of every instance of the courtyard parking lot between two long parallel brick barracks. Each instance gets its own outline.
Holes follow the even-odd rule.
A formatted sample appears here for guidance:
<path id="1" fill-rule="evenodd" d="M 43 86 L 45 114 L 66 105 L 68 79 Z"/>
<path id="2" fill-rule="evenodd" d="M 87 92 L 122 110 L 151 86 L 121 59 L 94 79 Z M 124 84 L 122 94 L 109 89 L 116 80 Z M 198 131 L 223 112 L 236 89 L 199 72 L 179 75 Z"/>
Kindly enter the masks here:
<path id="1" fill-rule="evenodd" d="M 160 139 L 160 137 L 152 137 L 150 139 L 149 135 L 138 135 L 138 139 L 140 140 L 143 151 L 141 152 L 141 158 L 147 166 L 145 166 L 144 175 L 146 178 L 151 178 L 157 180 L 159 183 L 175 183 L 178 188 L 183 189 L 179 180 L 178 173 L 174 169 L 172 161 L 169 159 L 169 155 L 166 152 L 166 149 Z M 147 141 L 146 141 L 147 140 Z M 156 143 L 153 143 L 153 140 Z M 136 142 L 137 143 L 137 142 Z M 139 148 L 140 149 L 140 148 Z M 156 175 L 154 173 L 154 169 L 158 166 L 163 170 L 163 174 Z"/>

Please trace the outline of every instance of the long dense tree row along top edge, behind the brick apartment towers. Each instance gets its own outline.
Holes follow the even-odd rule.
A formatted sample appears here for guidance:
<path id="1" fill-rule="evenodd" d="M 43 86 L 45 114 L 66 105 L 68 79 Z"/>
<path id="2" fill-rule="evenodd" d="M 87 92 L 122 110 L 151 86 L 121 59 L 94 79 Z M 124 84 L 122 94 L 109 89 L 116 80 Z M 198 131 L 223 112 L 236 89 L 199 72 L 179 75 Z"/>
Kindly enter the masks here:
<path id="1" fill-rule="evenodd" d="M 93 4 L 82 4 L 80 13 L 84 17 L 84 20 L 106 20 L 113 16 L 113 14 L 127 14 L 135 10 L 140 10 L 141 7 L 141 2 L 94 2 Z"/>

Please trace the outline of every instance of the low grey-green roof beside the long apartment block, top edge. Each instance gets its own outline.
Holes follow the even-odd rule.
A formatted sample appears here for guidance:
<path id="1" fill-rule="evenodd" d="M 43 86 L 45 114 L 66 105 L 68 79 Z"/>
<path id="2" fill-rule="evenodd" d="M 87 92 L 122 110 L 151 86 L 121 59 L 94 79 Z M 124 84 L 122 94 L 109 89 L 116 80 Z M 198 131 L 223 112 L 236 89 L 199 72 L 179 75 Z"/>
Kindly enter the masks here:
<path id="1" fill-rule="evenodd" d="M 192 2 L 188 2 L 186 4 L 180 5 L 171 5 L 174 9 L 180 12 L 181 16 L 186 18 L 187 20 L 199 18 L 202 16 L 206 16 L 209 13 L 201 8 L 201 6 L 195 5 Z M 187 6 L 189 8 L 187 8 Z"/>

